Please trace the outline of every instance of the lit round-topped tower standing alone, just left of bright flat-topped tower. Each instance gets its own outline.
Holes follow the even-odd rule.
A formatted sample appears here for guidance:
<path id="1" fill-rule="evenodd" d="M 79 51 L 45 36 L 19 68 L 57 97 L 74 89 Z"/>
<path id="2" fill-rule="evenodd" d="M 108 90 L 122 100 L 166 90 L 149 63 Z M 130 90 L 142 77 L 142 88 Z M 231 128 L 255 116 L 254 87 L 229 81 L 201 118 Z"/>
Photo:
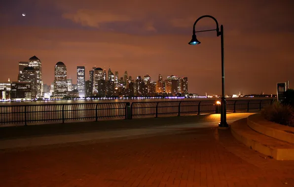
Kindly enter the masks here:
<path id="1" fill-rule="evenodd" d="M 54 70 L 54 96 L 63 98 L 68 92 L 67 67 L 63 62 L 57 62 Z"/>

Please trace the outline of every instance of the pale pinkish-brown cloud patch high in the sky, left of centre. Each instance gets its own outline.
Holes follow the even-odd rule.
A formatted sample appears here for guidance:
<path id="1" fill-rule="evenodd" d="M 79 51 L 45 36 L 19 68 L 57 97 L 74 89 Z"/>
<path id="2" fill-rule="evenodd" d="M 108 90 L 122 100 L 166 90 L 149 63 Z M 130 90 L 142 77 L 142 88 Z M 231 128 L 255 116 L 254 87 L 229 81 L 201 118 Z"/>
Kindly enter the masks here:
<path id="1" fill-rule="evenodd" d="M 64 13 L 63 18 L 72 20 L 82 26 L 99 28 L 103 23 L 127 22 L 131 18 L 126 15 L 118 15 L 110 12 L 100 12 L 90 9 L 79 9 L 75 13 Z"/>

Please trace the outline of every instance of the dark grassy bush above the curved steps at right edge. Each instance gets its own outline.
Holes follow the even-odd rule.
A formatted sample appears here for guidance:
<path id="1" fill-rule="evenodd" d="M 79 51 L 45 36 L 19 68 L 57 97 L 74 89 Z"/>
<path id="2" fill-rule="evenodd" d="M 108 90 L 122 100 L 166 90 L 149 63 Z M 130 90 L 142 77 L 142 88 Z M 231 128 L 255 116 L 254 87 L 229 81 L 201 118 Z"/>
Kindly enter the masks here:
<path id="1" fill-rule="evenodd" d="M 281 125 L 294 126 L 294 109 L 289 104 L 280 104 L 275 101 L 263 111 L 264 118 Z"/>

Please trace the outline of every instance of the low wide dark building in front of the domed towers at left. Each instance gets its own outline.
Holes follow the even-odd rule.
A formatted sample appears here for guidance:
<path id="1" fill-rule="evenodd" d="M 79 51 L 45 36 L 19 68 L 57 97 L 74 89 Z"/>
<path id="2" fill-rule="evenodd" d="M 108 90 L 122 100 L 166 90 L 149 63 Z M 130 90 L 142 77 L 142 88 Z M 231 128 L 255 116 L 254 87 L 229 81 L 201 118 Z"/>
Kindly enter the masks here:
<path id="1" fill-rule="evenodd" d="M 32 83 L 30 82 L 12 82 L 11 84 L 11 99 L 34 99 L 32 92 Z"/>

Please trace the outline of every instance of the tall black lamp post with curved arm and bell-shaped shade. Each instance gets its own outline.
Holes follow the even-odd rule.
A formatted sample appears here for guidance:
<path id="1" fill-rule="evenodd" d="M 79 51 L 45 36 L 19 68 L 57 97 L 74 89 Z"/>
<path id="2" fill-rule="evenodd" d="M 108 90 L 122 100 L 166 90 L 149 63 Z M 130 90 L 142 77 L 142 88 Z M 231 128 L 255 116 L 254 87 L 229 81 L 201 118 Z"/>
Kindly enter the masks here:
<path id="1" fill-rule="evenodd" d="M 212 18 L 217 24 L 217 29 L 195 31 L 196 23 L 202 18 Z M 221 36 L 221 122 L 219 123 L 219 127 L 228 127 L 228 124 L 226 123 L 226 100 L 224 97 L 223 26 L 221 25 L 221 31 L 219 31 L 219 23 L 216 18 L 210 15 L 199 17 L 194 23 L 192 39 L 188 44 L 190 45 L 200 44 L 201 42 L 196 38 L 196 32 L 207 32 L 207 31 L 217 31 L 217 36 Z"/>

